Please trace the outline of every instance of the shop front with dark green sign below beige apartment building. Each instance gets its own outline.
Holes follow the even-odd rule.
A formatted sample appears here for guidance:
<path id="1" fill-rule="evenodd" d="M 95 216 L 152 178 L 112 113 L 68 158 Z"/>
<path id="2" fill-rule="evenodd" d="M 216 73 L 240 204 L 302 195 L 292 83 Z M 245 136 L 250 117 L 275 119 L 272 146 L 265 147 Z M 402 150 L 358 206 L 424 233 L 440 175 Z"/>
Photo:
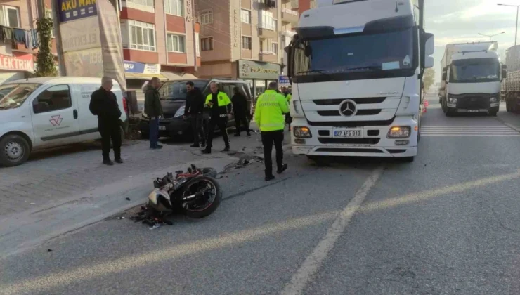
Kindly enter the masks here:
<path id="1" fill-rule="evenodd" d="M 238 78 L 249 81 L 254 101 L 266 91 L 269 82 L 278 81 L 281 69 L 276 63 L 263 63 L 254 60 L 237 60 Z"/>

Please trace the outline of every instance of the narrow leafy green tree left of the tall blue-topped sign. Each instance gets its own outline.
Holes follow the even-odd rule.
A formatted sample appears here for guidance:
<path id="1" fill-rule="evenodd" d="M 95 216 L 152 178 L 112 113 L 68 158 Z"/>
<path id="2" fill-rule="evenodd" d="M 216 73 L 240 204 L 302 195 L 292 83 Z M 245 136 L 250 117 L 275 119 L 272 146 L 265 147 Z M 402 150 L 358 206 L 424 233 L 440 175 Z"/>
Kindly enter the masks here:
<path id="1" fill-rule="evenodd" d="M 54 66 L 54 55 L 51 52 L 53 20 L 51 18 L 39 18 L 37 21 L 39 37 L 39 51 L 37 55 L 37 77 L 53 77 L 58 74 Z"/>

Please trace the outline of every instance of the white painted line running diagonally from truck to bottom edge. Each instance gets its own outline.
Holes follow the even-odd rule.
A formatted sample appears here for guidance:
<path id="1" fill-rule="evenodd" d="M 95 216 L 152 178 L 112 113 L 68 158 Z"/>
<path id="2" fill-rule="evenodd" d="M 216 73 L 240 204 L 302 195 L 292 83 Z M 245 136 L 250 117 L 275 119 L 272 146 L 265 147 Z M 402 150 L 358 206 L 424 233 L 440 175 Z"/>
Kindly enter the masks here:
<path id="1" fill-rule="evenodd" d="M 313 275 L 316 274 L 316 271 L 318 271 L 318 268 L 320 268 L 325 258 L 327 258 L 327 255 L 334 247 L 334 244 L 336 244 L 339 236 L 342 235 L 346 226 L 349 225 L 352 216 L 359 209 L 359 206 L 363 203 L 365 197 L 367 197 L 370 189 L 375 186 L 382 173 L 382 166 L 372 171 L 372 174 L 356 192 L 354 198 L 351 199 L 349 204 L 346 204 L 346 207 L 327 230 L 325 237 L 323 237 L 318 243 L 318 246 L 314 248 L 311 255 L 307 256 L 297 273 L 292 277 L 291 282 L 285 286 L 282 295 L 297 295 L 303 293 L 306 285 L 310 282 Z"/>

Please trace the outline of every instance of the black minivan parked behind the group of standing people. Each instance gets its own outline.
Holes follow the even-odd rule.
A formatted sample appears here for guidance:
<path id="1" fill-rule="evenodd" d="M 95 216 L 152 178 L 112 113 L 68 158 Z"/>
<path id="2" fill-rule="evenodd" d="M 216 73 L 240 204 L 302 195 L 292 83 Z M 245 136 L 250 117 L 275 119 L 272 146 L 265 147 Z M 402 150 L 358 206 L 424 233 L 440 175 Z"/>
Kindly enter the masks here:
<path id="1" fill-rule="evenodd" d="M 159 89 L 159 96 L 161 99 L 163 118 L 159 122 L 159 136 L 174 137 L 174 136 L 193 136 L 191 129 L 190 118 L 183 119 L 184 109 L 186 107 L 186 82 L 193 81 L 204 98 L 209 93 L 209 84 L 217 82 L 219 90 L 225 92 L 229 98 L 233 97 L 233 89 L 238 87 L 239 91 L 247 98 L 247 110 L 251 110 L 252 96 L 249 83 L 240 79 L 191 79 L 191 80 L 176 80 L 166 81 Z M 207 117 L 207 114 L 205 114 Z M 139 129 L 143 138 L 148 138 L 150 128 L 148 124 L 150 119 L 143 111 L 141 114 L 141 123 Z M 235 126 L 235 118 L 228 120 L 228 127 Z"/>

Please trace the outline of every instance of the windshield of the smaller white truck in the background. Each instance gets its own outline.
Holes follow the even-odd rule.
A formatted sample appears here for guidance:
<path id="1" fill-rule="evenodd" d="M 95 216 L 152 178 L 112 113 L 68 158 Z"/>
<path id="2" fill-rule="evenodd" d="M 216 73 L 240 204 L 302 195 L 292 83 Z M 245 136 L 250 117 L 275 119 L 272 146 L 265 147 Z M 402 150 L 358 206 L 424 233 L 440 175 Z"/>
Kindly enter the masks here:
<path id="1" fill-rule="evenodd" d="M 500 63 L 496 58 L 453 60 L 451 83 L 481 83 L 500 81 Z"/>

